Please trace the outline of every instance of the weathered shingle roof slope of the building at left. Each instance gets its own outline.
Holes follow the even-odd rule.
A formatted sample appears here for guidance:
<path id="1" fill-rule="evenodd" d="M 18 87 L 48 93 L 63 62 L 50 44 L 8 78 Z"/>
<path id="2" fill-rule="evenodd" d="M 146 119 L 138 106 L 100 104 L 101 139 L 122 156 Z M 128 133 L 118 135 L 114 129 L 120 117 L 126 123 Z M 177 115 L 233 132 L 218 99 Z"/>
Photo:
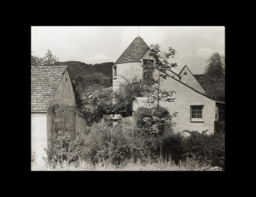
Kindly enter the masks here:
<path id="1" fill-rule="evenodd" d="M 47 112 L 67 65 L 32 66 L 31 112 Z"/>

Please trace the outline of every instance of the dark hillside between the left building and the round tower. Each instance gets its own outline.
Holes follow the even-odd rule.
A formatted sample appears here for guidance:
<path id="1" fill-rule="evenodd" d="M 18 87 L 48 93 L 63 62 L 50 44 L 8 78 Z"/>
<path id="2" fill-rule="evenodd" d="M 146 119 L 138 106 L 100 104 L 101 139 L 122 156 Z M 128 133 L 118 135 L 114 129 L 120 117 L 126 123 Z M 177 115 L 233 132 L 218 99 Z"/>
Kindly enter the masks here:
<path id="1" fill-rule="evenodd" d="M 61 62 L 61 65 L 67 65 L 72 81 L 78 74 L 83 76 L 84 80 L 82 88 L 87 92 L 94 92 L 102 88 L 112 87 L 113 62 L 87 65 L 79 61 L 66 61 Z"/>

